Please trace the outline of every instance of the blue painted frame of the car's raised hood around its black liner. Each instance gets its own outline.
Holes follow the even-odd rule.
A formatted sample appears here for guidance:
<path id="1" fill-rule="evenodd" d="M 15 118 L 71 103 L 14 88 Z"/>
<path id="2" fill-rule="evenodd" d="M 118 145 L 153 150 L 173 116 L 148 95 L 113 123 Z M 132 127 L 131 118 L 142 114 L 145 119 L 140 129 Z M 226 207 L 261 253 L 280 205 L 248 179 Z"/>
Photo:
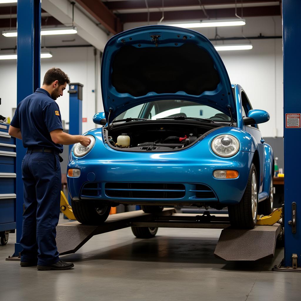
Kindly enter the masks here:
<path id="1" fill-rule="evenodd" d="M 219 73 L 220 83 L 216 90 L 206 91 L 201 95 L 189 95 L 183 91 L 165 94 L 157 94 L 149 91 L 146 95 L 139 97 L 134 97 L 128 93 L 118 93 L 111 83 L 112 58 L 124 45 L 132 45 L 136 48 L 138 48 L 138 45 L 140 45 L 139 48 L 156 47 L 154 42 L 151 41 L 150 35 L 152 34 L 160 34 L 160 45 L 158 47 L 180 47 L 185 43 L 195 43 L 200 48 L 205 49 L 212 57 L 215 68 Z M 178 35 L 180 35 L 180 38 L 178 38 Z M 183 36 L 188 36 L 188 38 L 184 40 Z M 149 63 L 149 61 L 145 62 L 145 65 L 149 65 Z M 235 120 L 237 116 L 231 83 L 222 59 L 205 36 L 191 29 L 166 25 L 151 25 L 126 30 L 113 36 L 104 48 L 101 66 L 101 93 L 106 117 L 108 117 L 109 108 L 112 108 L 112 119 L 138 104 L 163 99 L 188 99 L 214 107 L 227 115 L 230 115 L 227 107 L 227 105 L 230 105 L 232 116 Z"/>

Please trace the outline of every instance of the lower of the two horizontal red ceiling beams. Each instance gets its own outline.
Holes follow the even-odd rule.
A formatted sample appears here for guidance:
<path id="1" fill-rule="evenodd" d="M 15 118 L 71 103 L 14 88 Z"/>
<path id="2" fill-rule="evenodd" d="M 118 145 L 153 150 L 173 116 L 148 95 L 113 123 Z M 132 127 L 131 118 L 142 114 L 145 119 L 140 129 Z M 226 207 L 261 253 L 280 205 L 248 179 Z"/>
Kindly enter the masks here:
<path id="1" fill-rule="evenodd" d="M 208 9 L 206 13 L 211 19 L 221 18 L 234 18 L 235 8 L 224 8 L 224 9 Z M 277 6 L 260 6 L 260 7 L 246 7 L 243 10 L 244 17 L 262 17 L 262 16 L 280 16 L 281 8 Z M 237 11 L 240 15 L 240 10 Z M 151 12 L 150 21 L 159 21 L 162 17 L 162 13 Z M 123 23 L 126 22 L 146 22 L 147 12 L 145 13 L 130 13 L 130 14 L 119 14 L 119 18 Z M 202 10 L 192 11 L 165 11 L 164 21 L 176 21 L 176 20 L 199 20 L 206 19 L 206 16 Z"/>

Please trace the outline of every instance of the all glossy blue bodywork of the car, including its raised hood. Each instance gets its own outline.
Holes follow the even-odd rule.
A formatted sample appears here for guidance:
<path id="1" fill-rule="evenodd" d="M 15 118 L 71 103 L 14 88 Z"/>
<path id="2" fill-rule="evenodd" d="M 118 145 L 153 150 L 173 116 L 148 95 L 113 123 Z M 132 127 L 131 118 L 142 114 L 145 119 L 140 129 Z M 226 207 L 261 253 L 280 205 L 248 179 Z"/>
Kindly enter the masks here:
<path id="1" fill-rule="evenodd" d="M 111 58 L 123 45 L 122 40 L 131 45 L 141 44 L 141 47 L 150 47 L 150 32 L 159 31 L 164 33 L 163 45 L 170 46 L 175 41 L 175 32 L 189 34 L 193 41 L 200 47 L 205 48 L 214 58 L 216 69 L 220 73 L 221 85 L 217 91 L 205 92 L 204 95 L 192 96 L 175 93 L 174 95 L 155 95 L 149 93 L 143 97 L 132 97 L 131 95 L 118 95 L 115 88 L 110 84 Z M 129 37 L 132 40 L 129 40 Z M 178 41 L 178 40 L 177 40 Z M 166 44 L 164 44 L 166 43 Z M 232 91 L 233 89 L 233 91 Z M 219 93 L 230 90 L 229 95 L 225 95 L 223 103 L 217 99 Z M 95 145 L 83 157 L 76 157 L 71 151 L 68 169 L 78 168 L 81 175 L 77 178 L 67 177 L 68 189 L 73 200 L 99 200 L 112 203 L 126 202 L 129 204 L 143 204 L 145 202 L 160 205 L 161 203 L 170 204 L 194 204 L 194 203 L 221 203 L 223 206 L 235 204 L 241 200 L 244 194 L 250 166 L 254 155 L 259 156 L 259 165 L 257 166 L 258 193 L 259 199 L 264 200 L 270 193 L 269 185 L 272 176 L 273 152 L 272 148 L 263 142 L 262 135 L 257 126 L 244 126 L 243 124 L 243 89 L 240 85 L 230 85 L 228 74 L 224 65 L 216 53 L 213 45 L 199 33 L 188 29 L 173 28 L 170 26 L 146 26 L 132 29 L 120 33 L 109 40 L 104 50 L 102 65 L 102 93 L 104 99 L 105 116 L 109 108 L 113 109 L 114 116 L 123 111 L 134 107 L 137 104 L 146 103 L 165 98 L 189 99 L 218 108 L 226 113 L 227 104 L 231 105 L 232 116 L 234 116 L 233 126 L 221 126 L 210 132 L 202 140 L 192 144 L 185 149 L 179 149 L 169 152 L 130 152 L 113 149 L 104 141 L 104 131 L 106 129 L 92 129 L 85 135 L 95 137 Z M 206 101 L 204 101 L 206 96 Z M 114 101 L 113 101 L 114 99 Z M 216 103 L 208 101 L 214 100 Z M 225 104 L 225 107 L 223 105 Z M 252 109 L 248 105 L 248 111 Z M 247 111 L 247 112 L 248 112 Z M 227 112 L 229 114 L 229 112 Z M 139 115 L 141 116 L 141 114 Z M 96 123 L 104 117 L 104 113 L 95 114 Z M 236 121 L 236 123 L 235 123 Z M 142 121 L 143 122 L 143 121 Z M 171 121 L 172 122 L 172 121 Z M 176 121 L 175 121 L 176 122 Z M 130 123 L 129 123 L 130 125 Z M 232 157 L 224 158 L 217 156 L 211 149 L 213 139 L 222 134 L 233 135 L 240 142 L 239 151 Z M 107 133 L 106 133 L 107 136 Z M 237 170 L 239 173 L 236 179 L 216 179 L 213 172 L 219 169 Z M 97 183 L 95 196 L 82 197 L 83 186 L 91 182 L 91 173 L 95 174 L 94 183 Z M 110 197 L 105 192 L 105 184 L 110 182 L 123 183 L 181 183 L 185 187 L 185 195 L 181 198 L 168 198 L 164 200 L 143 198 L 118 198 Z M 208 199 L 196 199 L 196 184 L 204 184 L 212 189 L 215 197 Z M 115 189 L 116 190 L 116 189 Z M 106 191 L 109 191 L 107 189 Z"/>

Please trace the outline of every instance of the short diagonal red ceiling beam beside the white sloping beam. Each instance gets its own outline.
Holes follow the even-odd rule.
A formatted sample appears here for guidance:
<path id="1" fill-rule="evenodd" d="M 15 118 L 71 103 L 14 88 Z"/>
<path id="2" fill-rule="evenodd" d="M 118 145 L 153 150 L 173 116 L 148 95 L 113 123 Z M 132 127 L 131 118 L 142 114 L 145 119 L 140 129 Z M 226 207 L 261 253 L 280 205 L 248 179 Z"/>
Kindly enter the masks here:
<path id="1" fill-rule="evenodd" d="M 101 0 L 76 0 L 89 14 L 91 14 L 110 33 L 122 31 L 122 24 Z"/>

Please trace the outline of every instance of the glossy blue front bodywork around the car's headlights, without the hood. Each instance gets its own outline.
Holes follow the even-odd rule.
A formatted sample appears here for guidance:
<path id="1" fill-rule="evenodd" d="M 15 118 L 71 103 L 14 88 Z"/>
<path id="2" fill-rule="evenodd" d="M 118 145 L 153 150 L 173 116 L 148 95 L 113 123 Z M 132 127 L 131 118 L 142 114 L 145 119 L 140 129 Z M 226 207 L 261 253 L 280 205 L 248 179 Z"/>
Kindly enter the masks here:
<path id="1" fill-rule="evenodd" d="M 94 129 L 86 133 L 96 139 L 95 146 L 83 157 L 76 157 L 71 152 L 69 168 L 78 168 L 81 175 L 78 178 L 67 178 L 68 189 L 74 200 L 80 199 L 82 186 L 89 182 L 88 174 L 95 173 L 95 182 L 101 182 L 102 194 L 100 200 L 112 201 L 118 198 L 104 194 L 104 184 L 107 182 L 168 182 L 183 183 L 186 195 L 181 199 L 164 200 L 165 203 L 194 203 L 196 200 L 189 191 L 192 184 L 206 184 L 216 194 L 216 199 L 206 199 L 204 202 L 232 204 L 240 201 L 247 185 L 247 177 L 257 149 L 253 137 L 236 127 L 216 129 L 212 135 L 186 150 L 166 153 L 141 153 L 117 151 L 104 144 L 102 129 Z M 211 150 L 212 140 L 221 134 L 230 134 L 238 138 L 240 151 L 231 158 L 217 156 Z M 231 169 L 239 172 L 236 179 L 216 179 L 213 172 L 217 169 Z M 184 178 L 183 178 L 184 177 Z M 168 179 L 168 180 L 166 180 Z M 270 177 L 269 177 L 270 179 Z M 262 191 L 259 191 L 262 192 Z M 150 199 L 131 199 L 135 202 L 150 201 Z M 153 200 L 154 203 L 160 203 Z"/>

